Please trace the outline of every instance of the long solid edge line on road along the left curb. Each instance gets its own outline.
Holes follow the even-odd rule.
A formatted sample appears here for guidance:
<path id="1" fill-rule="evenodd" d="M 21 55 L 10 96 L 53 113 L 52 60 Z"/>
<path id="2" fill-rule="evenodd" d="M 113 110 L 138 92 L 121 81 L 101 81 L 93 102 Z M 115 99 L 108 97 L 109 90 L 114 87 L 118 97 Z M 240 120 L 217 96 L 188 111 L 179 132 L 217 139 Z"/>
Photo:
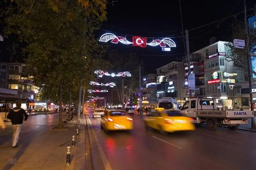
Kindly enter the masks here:
<path id="1" fill-rule="evenodd" d="M 89 119 L 89 116 L 86 114 L 86 117 L 88 118 L 88 121 L 92 127 L 92 122 L 90 121 Z M 98 150 L 99 150 L 99 154 L 100 154 L 100 157 L 103 161 L 103 164 L 104 164 L 104 167 L 105 167 L 105 170 L 112 170 L 111 166 L 110 166 L 110 163 L 109 163 L 109 160 L 107 159 L 107 156 L 106 154 L 104 153 L 104 150 L 102 148 L 102 146 L 100 145 L 99 143 L 99 139 L 97 137 L 97 134 L 96 132 L 94 131 L 93 127 L 92 127 L 92 133 L 93 133 L 93 136 L 94 136 L 94 139 L 95 139 L 95 142 L 96 142 L 96 145 L 98 146 Z"/>

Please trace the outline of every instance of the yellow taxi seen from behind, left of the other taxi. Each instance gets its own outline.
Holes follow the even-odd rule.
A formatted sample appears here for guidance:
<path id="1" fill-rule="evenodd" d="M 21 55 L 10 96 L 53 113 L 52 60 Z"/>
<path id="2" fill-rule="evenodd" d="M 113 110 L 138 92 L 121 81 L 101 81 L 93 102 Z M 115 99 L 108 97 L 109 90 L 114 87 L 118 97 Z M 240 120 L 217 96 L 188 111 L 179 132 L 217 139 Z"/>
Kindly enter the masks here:
<path id="1" fill-rule="evenodd" d="M 101 115 L 100 126 L 105 131 L 118 131 L 133 129 L 133 118 L 124 110 L 106 110 Z"/>

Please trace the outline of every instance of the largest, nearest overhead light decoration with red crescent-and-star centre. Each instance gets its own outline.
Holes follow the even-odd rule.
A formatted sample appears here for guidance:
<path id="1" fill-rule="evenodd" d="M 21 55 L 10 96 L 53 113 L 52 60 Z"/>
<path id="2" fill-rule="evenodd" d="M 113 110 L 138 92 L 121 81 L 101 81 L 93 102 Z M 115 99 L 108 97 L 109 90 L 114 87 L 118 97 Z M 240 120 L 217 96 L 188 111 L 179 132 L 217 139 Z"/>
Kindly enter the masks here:
<path id="1" fill-rule="evenodd" d="M 100 42 L 108 42 L 109 40 L 111 40 L 111 43 L 117 44 L 118 42 L 122 43 L 122 44 L 133 44 L 133 46 L 140 46 L 140 47 L 147 47 L 147 45 L 150 46 L 160 46 L 160 47 L 176 47 L 175 42 L 170 39 L 170 38 L 164 38 L 162 40 L 160 39 L 153 39 L 153 41 L 151 41 L 150 43 L 147 43 L 147 38 L 145 37 L 138 37 L 138 36 L 134 36 L 133 37 L 133 42 L 128 41 L 126 38 L 124 37 L 120 37 L 120 36 L 116 36 L 114 34 L 111 33 L 106 33 L 101 35 L 101 37 L 99 38 Z"/>

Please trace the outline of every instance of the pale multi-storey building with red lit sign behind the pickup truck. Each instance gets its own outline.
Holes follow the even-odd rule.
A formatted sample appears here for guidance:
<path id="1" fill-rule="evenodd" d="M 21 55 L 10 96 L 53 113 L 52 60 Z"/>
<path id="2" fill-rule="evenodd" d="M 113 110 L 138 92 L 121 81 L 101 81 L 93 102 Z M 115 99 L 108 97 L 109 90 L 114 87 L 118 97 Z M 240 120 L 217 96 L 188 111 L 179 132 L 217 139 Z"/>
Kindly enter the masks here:
<path id="1" fill-rule="evenodd" d="M 228 46 L 225 41 L 218 41 L 205 48 L 191 53 L 190 71 L 195 73 L 196 90 L 191 90 L 192 96 L 216 98 L 219 106 L 232 108 L 232 91 L 234 93 L 234 108 L 249 105 L 248 97 L 241 97 L 241 85 L 249 80 L 248 72 L 236 67 L 227 59 Z M 189 97 L 187 89 L 188 68 L 186 57 L 183 57 L 186 98 Z M 233 89 L 232 89 L 233 88 Z M 232 89 L 232 90 L 231 90 Z"/>

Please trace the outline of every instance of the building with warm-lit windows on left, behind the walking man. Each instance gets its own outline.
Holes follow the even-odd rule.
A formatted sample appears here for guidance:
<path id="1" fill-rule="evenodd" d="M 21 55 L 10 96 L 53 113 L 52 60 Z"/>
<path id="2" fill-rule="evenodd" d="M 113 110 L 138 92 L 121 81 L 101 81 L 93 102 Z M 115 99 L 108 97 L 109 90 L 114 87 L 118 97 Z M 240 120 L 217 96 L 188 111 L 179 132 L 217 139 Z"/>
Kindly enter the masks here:
<path id="1" fill-rule="evenodd" d="M 40 101 L 40 88 L 36 86 L 34 77 L 25 73 L 26 64 L 0 62 L 0 88 L 17 90 L 18 96 Z"/>

